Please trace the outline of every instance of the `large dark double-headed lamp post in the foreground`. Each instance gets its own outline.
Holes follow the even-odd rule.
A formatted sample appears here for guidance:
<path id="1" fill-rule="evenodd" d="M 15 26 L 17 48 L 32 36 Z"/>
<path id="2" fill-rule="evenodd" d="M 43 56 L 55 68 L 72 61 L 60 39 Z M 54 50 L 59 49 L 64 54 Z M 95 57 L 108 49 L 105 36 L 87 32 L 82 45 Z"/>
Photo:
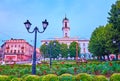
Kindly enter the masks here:
<path id="1" fill-rule="evenodd" d="M 36 26 L 34 28 L 33 31 L 29 31 L 30 27 L 31 27 L 31 23 L 29 22 L 29 20 L 27 20 L 25 23 L 24 23 L 27 31 L 29 33 L 34 33 L 35 32 L 35 40 L 34 40 L 34 52 L 33 52 L 33 57 L 32 57 L 32 74 L 35 75 L 36 74 L 36 42 L 37 42 L 37 32 L 38 33 L 43 33 L 45 31 L 45 29 L 47 28 L 48 26 L 48 22 L 47 20 L 45 19 L 45 21 L 42 21 L 42 25 L 43 25 L 43 31 L 39 31 L 38 27 Z"/>

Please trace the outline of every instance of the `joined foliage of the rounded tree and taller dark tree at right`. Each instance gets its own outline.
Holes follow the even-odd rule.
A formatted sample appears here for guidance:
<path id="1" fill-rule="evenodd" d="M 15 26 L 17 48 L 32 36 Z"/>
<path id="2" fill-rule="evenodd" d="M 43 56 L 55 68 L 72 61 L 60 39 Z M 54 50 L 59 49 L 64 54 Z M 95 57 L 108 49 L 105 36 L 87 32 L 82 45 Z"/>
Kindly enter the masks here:
<path id="1" fill-rule="evenodd" d="M 89 51 L 95 56 L 118 53 L 118 43 L 120 42 L 120 1 L 116 1 L 111 6 L 108 13 L 108 24 L 96 28 L 90 38 Z M 116 44 L 113 44 L 113 39 Z"/>

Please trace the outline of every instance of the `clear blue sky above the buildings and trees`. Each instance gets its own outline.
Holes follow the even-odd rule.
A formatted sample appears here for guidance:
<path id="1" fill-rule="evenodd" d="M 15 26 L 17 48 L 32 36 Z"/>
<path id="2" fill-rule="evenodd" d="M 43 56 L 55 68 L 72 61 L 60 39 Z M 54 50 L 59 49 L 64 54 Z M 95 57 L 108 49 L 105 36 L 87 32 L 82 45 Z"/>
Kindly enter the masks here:
<path id="1" fill-rule="evenodd" d="M 49 25 L 37 36 L 41 40 L 62 37 L 62 20 L 69 19 L 70 36 L 90 39 L 96 27 L 107 24 L 108 12 L 116 0 L 0 0 L 0 45 L 11 38 L 25 39 L 34 45 L 34 33 L 27 32 L 24 22 L 32 23 L 30 30 L 43 30 L 42 21 Z"/>

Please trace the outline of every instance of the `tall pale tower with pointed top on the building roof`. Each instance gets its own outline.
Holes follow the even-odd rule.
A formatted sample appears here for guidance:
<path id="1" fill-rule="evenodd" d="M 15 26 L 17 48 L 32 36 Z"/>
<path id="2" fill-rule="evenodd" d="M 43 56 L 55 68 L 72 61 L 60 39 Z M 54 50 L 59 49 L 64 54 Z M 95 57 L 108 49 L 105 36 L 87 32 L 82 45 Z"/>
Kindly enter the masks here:
<path id="1" fill-rule="evenodd" d="M 63 27 L 62 27 L 62 31 L 63 31 L 63 37 L 70 37 L 70 27 L 69 27 L 69 19 L 65 18 L 63 19 Z"/>

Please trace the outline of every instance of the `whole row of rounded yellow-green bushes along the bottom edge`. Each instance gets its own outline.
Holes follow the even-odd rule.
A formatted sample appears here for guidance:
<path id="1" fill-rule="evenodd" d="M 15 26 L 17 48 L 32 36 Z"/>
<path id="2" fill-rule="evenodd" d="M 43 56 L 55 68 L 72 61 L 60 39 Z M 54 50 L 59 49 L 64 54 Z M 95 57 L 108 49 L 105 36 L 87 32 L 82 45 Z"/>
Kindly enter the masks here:
<path id="1" fill-rule="evenodd" d="M 21 78 L 0 75 L 0 81 L 120 81 L 120 73 L 112 74 L 109 80 L 103 75 L 90 75 L 87 73 L 72 75 L 65 73 L 60 76 L 55 74 L 47 74 L 44 76 L 24 75 Z"/>

